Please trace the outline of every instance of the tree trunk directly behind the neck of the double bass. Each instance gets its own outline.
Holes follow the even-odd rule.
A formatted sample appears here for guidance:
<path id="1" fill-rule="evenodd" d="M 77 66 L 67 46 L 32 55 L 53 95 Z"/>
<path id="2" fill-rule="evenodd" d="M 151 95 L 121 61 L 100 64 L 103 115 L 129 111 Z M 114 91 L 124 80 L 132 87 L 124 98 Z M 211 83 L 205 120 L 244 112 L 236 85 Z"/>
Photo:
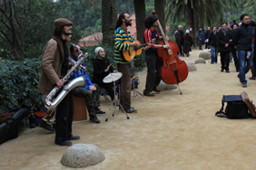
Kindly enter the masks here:
<path id="1" fill-rule="evenodd" d="M 154 0 L 154 10 L 158 16 L 159 22 L 162 25 L 162 30 L 165 33 L 165 15 L 164 15 L 165 3 L 163 0 Z M 160 33 L 160 35 L 162 35 Z"/>

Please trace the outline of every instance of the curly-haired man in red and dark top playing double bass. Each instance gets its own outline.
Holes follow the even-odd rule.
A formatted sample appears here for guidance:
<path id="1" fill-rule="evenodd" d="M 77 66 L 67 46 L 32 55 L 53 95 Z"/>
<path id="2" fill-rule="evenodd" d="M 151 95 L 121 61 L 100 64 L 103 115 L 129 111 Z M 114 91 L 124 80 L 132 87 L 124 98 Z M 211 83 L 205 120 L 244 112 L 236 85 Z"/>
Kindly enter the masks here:
<path id="1" fill-rule="evenodd" d="M 145 90 L 143 90 L 144 96 L 153 97 L 152 91 L 160 92 L 156 90 L 156 87 L 160 83 L 159 69 L 162 66 L 161 60 L 157 55 L 157 48 L 170 49 L 169 45 L 159 45 L 155 43 L 158 40 L 162 40 L 162 36 L 156 30 L 158 18 L 156 16 L 149 16 L 145 20 L 144 42 L 153 42 L 150 47 L 145 47 L 145 61 L 147 64 L 147 78 Z M 168 36 L 165 37 L 168 40 Z M 149 49 L 148 49 L 149 48 Z M 147 50 L 148 49 L 148 50 Z"/>

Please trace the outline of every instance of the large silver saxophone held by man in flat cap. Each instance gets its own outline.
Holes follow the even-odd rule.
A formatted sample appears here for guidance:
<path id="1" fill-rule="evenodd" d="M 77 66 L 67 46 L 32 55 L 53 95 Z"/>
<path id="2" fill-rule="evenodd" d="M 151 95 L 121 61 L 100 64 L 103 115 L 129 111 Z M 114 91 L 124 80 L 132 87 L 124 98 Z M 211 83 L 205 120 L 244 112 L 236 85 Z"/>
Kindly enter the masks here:
<path id="1" fill-rule="evenodd" d="M 73 43 L 72 43 L 73 44 Z M 73 44 L 74 45 L 74 44 Z M 74 45 L 75 47 L 75 45 Z M 74 74 L 74 72 L 77 70 L 77 68 L 80 67 L 84 59 L 88 57 L 88 53 L 86 52 L 83 54 L 82 51 L 80 51 L 80 55 L 78 56 L 78 60 L 74 63 L 72 68 L 67 71 L 66 75 L 64 76 L 61 81 L 66 84 L 66 82 L 69 80 L 70 76 Z M 64 85 L 64 88 L 62 88 L 62 91 L 58 93 L 60 90 L 58 87 L 54 87 L 53 90 L 48 95 L 45 95 L 43 97 L 43 101 L 45 106 L 48 109 L 54 109 L 58 106 L 58 104 L 64 99 L 64 97 L 68 94 L 69 91 L 73 90 L 74 88 L 78 86 L 85 86 L 86 80 L 84 78 L 84 74 L 81 77 L 75 78 L 74 80 L 71 80 L 68 84 Z M 56 95 L 58 93 L 58 95 Z"/>

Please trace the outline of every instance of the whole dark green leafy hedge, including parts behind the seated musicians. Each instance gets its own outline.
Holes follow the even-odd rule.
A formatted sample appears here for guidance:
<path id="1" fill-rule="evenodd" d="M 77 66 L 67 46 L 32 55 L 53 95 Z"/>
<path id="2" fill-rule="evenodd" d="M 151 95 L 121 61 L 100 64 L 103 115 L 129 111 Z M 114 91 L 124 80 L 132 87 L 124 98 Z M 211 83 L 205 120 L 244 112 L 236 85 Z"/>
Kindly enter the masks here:
<path id="1" fill-rule="evenodd" d="M 85 65 L 90 78 L 94 71 L 93 61 L 96 58 L 94 53 L 96 47 L 83 47 L 83 51 L 89 53 Z M 113 62 L 113 47 L 103 45 L 103 48 L 107 59 L 116 68 Z M 43 107 L 43 95 L 37 90 L 40 64 L 41 57 L 32 58 L 32 56 L 27 56 L 25 61 L 0 61 L 0 114 L 14 108 L 25 108 L 34 112 Z M 136 56 L 136 70 L 141 70 L 144 65 L 144 54 Z"/>

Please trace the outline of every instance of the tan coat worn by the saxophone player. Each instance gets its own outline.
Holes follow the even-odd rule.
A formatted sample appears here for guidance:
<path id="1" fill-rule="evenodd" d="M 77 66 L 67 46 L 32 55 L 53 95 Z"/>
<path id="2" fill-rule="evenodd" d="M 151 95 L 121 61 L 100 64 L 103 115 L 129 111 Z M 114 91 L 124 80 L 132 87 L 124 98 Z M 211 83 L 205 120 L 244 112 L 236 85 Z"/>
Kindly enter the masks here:
<path id="1" fill-rule="evenodd" d="M 53 37 L 44 46 L 42 55 L 38 91 L 48 94 L 60 80 L 64 62 L 63 44 L 59 37 Z"/>

